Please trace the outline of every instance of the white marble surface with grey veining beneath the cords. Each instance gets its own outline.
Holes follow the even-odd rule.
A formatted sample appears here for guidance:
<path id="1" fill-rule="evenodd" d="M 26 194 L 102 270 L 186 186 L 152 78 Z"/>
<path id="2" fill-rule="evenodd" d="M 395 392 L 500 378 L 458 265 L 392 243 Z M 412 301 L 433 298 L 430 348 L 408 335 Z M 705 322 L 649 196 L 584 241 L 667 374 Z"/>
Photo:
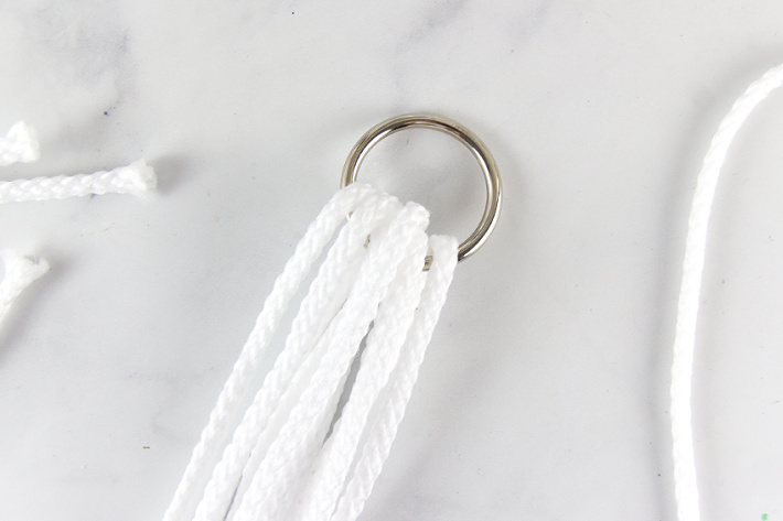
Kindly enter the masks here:
<path id="1" fill-rule="evenodd" d="M 271 282 L 353 142 L 431 111 L 491 148 L 495 235 L 457 272 L 365 520 L 674 519 L 667 386 L 686 217 L 720 118 L 783 61 L 779 0 L 0 3 L 0 129 L 144 158 L 149 200 L 7 205 L 53 271 L 0 325 L 0 519 L 160 519 Z M 705 519 L 783 519 L 783 93 L 731 150 L 696 356 Z M 483 187 L 428 131 L 365 180 L 463 237 Z"/>

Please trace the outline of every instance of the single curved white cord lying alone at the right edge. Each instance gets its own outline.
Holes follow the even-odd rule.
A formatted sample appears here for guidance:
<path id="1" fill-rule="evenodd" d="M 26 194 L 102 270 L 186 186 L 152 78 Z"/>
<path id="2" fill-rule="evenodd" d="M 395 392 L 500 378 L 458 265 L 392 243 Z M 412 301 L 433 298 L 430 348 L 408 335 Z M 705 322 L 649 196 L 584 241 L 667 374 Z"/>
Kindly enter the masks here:
<path id="1" fill-rule="evenodd" d="M 699 290 L 704 271 L 707 225 L 720 169 L 731 141 L 753 108 L 783 84 L 783 65 L 751 84 L 723 118 L 704 160 L 694 193 L 685 242 L 683 283 L 677 304 L 677 325 L 672 362 L 672 441 L 674 484 L 679 521 L 698 521 L 698 488 L 691 428 L 691 376 Z"/>

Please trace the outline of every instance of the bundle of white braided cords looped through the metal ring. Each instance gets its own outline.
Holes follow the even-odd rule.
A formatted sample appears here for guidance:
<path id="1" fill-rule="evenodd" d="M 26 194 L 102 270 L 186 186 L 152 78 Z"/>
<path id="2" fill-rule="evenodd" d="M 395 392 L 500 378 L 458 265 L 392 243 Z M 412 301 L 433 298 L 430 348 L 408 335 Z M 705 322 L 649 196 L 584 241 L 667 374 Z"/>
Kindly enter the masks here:
<path id="1" fill-rule="evenodd" d="M 311 283 L 285 349 L 234 428 L 239 398 L 249 391 L 260 350 L 348 213 L 352 217 Z M 403 370 L 401 360 L 410 357 L 409 351 L 423 354 L 457 263 L 457 241 L 433 237 L 429 239 L 433 267 L 421 271 L 428 250 L 427 224 L 428 214 L 420 206 L 403 206 L 365 185 L 352 184 L 335 195 L 267 299 L 167 521 L 331 518 L 351 470 L 363 457 L 362 441 L 372 438 L 376 424 L 384 423 L 368 420 L 393 414 L 396 427 L 401 419 L 401 411 L 387 404 L 388 389 L 401 386 L 409 395 L 416 379 L 410 372 L 418 370 L 418 363 L 405 363 Z M 371 324 L 356 381 L 346 390 L 350 368 Z M 337 412 L 339 398 L 348 392 Z M 395 405 L 404 408 L 405 402 L 395 401 Z M 390 446 L 393 437 L 385 436 L 384 442 Z M 221 451 L 223 456 L 216 462 Z M 362 490 L 367 488 L 372 484 Z"/>

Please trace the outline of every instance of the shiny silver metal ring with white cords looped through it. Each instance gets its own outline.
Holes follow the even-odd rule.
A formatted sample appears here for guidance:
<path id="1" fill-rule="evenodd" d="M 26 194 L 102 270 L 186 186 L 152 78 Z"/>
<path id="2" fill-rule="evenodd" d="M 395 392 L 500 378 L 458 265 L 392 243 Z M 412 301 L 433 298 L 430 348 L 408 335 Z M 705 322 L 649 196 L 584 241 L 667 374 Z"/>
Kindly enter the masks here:
<path id="1" fill-rule="evenodd" d="M 462 262 L 475 253 L 476 250 L 486 242 L 486 239 L 497 224 L 497 217 L 501 213 L 501 176 L 497 172 L 495 160 L 492 158 L 486 145 L 482 143 L 473 132 L 461 124 L 440 116 L 418 113 L 396 116 L 376 124 L 362 135 L 356 144 L 354 144 L 353 149 L 351 149 L 351 153 L 345 161 L 345 166 L 343 166 L 340 186 L 345 187 L 356 181 L 362 161 L 364 161 L 369 150 L 382 139 L 400 130 L 416 127 L 439 130 L 457 138 L 479 161 L 481 171 L 484 174 L 484 181 L 486 182 L 486 205 L 484 206 L 484 215 L 482 215 L 481 221 L 473 234 L 460 245 L 457 260 Z M 429 268 L 430 261 L 431 259 L 428 258 L 425 269 Z"/>

